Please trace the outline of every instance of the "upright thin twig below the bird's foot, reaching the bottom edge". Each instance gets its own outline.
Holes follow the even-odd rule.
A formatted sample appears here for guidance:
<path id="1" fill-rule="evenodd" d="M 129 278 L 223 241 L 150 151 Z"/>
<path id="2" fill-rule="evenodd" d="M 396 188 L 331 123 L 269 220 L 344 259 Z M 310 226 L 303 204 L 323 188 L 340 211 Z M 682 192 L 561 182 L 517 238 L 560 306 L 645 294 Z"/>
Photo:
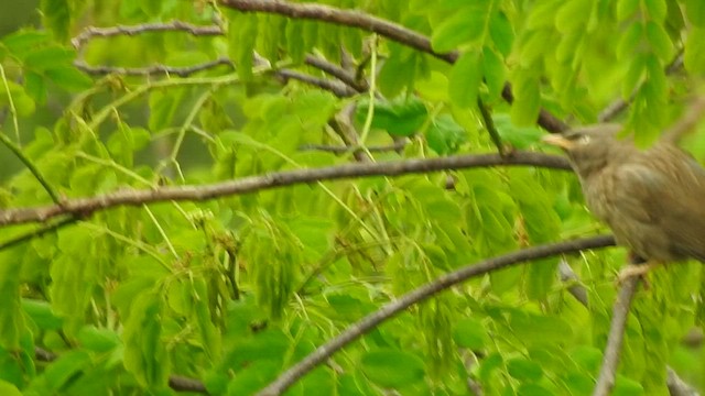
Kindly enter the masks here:
<path id="1" fill-rule="evenodd" d="M 627 319 L 629 318 L 629 308 L 633 299 L 640 278 L 631 276 L 621 283 L 619 295 L 615 300 L 612 309 L 612 320 L 609 326 L 609 336 L 607 337 L 607 346 L 603 356 L 603 364 L 599 370 L 599 377 L 593 391 L 593 396 L 608 396 L 615 386 L 615 376 L 617 375 L 617 365 L 621 353 L 621 344 L 625 339 L 625 329 L 627 328 Z"/>

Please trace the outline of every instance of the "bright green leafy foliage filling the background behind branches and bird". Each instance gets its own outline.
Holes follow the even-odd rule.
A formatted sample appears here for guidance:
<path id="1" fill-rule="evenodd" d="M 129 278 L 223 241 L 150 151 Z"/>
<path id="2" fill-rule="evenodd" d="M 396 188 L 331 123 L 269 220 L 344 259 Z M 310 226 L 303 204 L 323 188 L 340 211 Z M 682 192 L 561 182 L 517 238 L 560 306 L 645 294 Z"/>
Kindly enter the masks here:
<path id="1" fill-rule="evenodd" d="M 372 35 L 217 2 L 43 0 L 41 29 L 0 37 L 0 133 L 62 199 L 182 185 L 213 197 L 200 186 L 269 175 L 275 187 L 282 176 L 272 173 L 371 163 L 368 155 L 496 152 L 478 102 L 502 143 L 542 151 L 542 109 L 590 123 L 628 99 L 618 121 L 647 145 L 698 92 L 705 70 L 699 0 L 318 3 L 412 29 L 445 55 L 388 40 L 383 29 Z M 69 43 L 88 23 L 149 30 L 169 21 L 193 26 Z M 221 31 L 196 32 L 205 26 Z M 452 52 L 455 62 L 443 61 Z M 338 97 L 311 84 L 333 80 L 306 62 L 311 54 L 356 87 Z M 680 54 L 684 72 L 666 73 Z M 218 58 L 232 65 L 144 75 Z M 375 95 L 355 92 L 362 82 Z M 23 163 L 0 157 L 2 209 L 52 204 Z M 173 375 L 214 395 L 253 394 L 449 271 L 601 229 L 573 176 L 529 167 L 326 180 L 80 215 L 0 249 L 2 395 L 169 395 Z M 0 244 L 33 227 L 3 227 Z M 564 258 L 587 307 L 557 282 L 561 257 L 492 272 L 372 329 L 290 392 L 462 395 L 476 383 L 487 395 L 590 394 L 625 252 Z M 680 345 L 705 321 L 699 265 L 658 270 L 651 283 L 629 317 L 616 395 L 665 394 L 666 364 L 705 386 L 703 352 Z"/>

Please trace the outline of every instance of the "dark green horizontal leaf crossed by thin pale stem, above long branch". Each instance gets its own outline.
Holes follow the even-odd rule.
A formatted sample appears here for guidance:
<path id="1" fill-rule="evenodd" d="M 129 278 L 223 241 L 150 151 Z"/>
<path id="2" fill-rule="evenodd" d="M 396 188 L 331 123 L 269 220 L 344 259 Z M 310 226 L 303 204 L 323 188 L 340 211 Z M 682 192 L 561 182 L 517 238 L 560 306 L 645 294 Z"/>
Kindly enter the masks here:
<path id="1" fill-rule="evenodd" d="M 357 106 L 355 119 L 359 124 L 365 122 L 369 106 L 368 100 L 361 100 Z M 421 130 L 427 116 L 429 111 L 419 98 L 399 97 L 389 102 L 375 103 L 372 128 L 384 130 L 392 136 L 411 136 Z"/>

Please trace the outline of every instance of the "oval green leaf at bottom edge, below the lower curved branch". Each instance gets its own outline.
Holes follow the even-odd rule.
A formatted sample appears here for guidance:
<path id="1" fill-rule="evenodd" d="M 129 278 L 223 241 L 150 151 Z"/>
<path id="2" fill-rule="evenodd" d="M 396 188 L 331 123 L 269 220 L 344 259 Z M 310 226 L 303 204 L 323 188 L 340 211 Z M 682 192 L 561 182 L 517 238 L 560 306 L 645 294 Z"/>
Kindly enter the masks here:
<path id="1" fill-rule="evenodd" d="M 398 350 L 368 352 L 360 360 L 362 372 L 383 387 L 403 387 L 423 381 L 424 362 L 415 354 Z"/>

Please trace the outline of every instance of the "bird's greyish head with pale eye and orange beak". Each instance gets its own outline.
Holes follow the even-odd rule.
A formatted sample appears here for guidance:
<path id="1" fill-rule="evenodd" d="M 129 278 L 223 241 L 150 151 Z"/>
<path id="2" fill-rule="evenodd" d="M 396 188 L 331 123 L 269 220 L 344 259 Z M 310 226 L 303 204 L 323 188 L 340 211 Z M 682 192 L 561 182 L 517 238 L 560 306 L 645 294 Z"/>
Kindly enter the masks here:
<path id="1" fill-rule="evenodd" d="M 547 135 L 543 141 L 563 148 L 575 172 L 587 178 L 637 150 L 630 140 L 617 138 L 619 131 L 621 125 L 618 124 L 596 124 Z"/>

